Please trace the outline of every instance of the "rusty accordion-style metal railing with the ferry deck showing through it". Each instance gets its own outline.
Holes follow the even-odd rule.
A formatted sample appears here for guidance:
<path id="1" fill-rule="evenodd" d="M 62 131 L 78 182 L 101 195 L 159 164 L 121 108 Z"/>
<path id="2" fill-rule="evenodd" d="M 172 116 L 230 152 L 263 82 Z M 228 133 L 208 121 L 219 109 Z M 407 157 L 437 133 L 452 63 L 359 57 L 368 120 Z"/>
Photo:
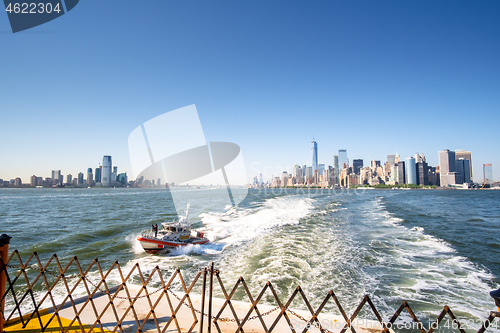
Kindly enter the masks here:
<path id="1" fill-rule="evenodd" d="M 14 324 L 22 329 L 31 325 L 39 332 L 373 332 L 373 325 L 367 322 L 362 327 L 354 325 L 362 310 L 376 318 L 372 324 L 379 332 L 398 331 L 397 320 L 404 311 L 412 321 L 402 329 L 405 331 L 432 333 L 442 328 L 445 318 L 453 331 L 467 330 L 448 306 L 425 328 L 407 301 L 402 301 L 392 317 L 384 321 L 368 295 L 350 315 L 333 291 L 326 293 L 317 308 L 300 286 L 282 301 L 273 284 L 267 282 L 255 297 L 243 277 L 226 288 L 213 263 L 197 272 L 189 284 L 179 269 L 167 278 L 158 266 L 145 272 L 136 263 L 125 274 L 117 261 L 103 269 L 94 259 L 82 268 L 76 256 L 63 265 L 56 254 L 42 261 L 35 252 L 23 261 L 14 250 L 7 262 L 0 264 L 0 275 L 4 274 L 7 281 L 5 292 L 0 291 L 0 302 L 5 303 L 0 320 L 7 332 Z M 238 303 L 237 293 L 248 303 Z M 297 302 L 303 302 L 306 310 L 293 310 L 292 304 Z M 335 329 L 321 320 L 327 304 L 339 314 Z M 499 318 L 499 312 L 490 312 L 474 332 L 483 333 L 492 325 L 498 329 Z"/>

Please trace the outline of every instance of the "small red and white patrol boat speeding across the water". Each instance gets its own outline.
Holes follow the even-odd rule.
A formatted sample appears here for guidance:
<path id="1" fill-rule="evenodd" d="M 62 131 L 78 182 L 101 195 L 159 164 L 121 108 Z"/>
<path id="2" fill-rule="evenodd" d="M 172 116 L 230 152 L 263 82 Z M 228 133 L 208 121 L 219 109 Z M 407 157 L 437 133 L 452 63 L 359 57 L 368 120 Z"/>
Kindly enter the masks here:
<path id="1" fill-rule="evenodd" d="M 186 209 L 186 215 L 180 217 L 177 221 L 162 223 L 162 228 L 153 231 L 143 231 L 141 236 L 137 237 L 142 248 L 147 253 L 157 253 L 159 251 L 170 251 L 176 247 L 189 244 L 205 244 L 209 240 L 205 234 L 200 231 L 191 230 L 188 223 L 189 205 Z"/>

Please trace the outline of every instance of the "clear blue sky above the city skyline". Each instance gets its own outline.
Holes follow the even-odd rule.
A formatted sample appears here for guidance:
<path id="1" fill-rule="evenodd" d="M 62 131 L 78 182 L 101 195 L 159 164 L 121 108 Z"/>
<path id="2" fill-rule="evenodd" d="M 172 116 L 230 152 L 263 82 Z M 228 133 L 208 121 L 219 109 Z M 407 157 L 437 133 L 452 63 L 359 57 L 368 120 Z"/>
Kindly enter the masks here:
<path id="1" fill-rule="evenodd" d="M 500 178 L 500 2 L 85 0 L 13 34 L 0 13 L 0 178 L 130 171 L 127 138 L 196 104 L 249 177 L 338 149 L 472 151 Z"/>

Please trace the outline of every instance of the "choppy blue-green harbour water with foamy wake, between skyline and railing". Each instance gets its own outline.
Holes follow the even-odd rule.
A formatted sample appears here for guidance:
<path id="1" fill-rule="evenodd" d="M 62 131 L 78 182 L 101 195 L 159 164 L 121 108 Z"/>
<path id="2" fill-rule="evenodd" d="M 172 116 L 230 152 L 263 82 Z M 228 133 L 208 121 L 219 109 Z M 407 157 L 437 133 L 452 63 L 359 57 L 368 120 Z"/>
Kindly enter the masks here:
<path id="1" fill-rule="evenodd" d="M 23 257 L 180 267 L 188 280 L 213 261 L 228 286 L 243 276 L 257 295 L 272 281 L 285 299 L 301 285 L 315 306 L 333 289 L 350 312 L 365 294 L 385 317 L 402 300 L 432 319 L 444 305 L 471 320 L 494 309 L 500 191 L 250 190 L 236 208 L 217 199 L 224 191 L 181 191 L 211 243 L 170 254 L 148 255 L 135 240 L 175 216 L 166 190 L 2 189 L 0 232 Z"/>

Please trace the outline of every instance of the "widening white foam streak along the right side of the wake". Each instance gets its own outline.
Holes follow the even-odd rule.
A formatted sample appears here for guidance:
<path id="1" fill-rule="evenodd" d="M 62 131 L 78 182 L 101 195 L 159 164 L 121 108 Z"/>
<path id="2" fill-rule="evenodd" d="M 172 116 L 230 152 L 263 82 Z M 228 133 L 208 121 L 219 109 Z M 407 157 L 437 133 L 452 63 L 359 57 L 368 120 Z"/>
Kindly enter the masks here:
<path id="1" fill-rule="evenodd" d="M 371 270 L 374 279 L 369 288 L 392 294 L 377 302 L 413 300 L 429 315 L 433 306 L 448 304 L 454 312 L 483 317 L 491 303 L 484 297 L 490 290 L 487 281 L 494 279 L 490 272 L 458 255 L 444 240 L 426 234 L 424 228 L 405 227 L 380 201 L 365 214 L 368 211 L 370 223 L 378 225 L 371 231 L 371 259 L 377 269 Z M 388 279 L 391 275 L 399 280 Z"/>

